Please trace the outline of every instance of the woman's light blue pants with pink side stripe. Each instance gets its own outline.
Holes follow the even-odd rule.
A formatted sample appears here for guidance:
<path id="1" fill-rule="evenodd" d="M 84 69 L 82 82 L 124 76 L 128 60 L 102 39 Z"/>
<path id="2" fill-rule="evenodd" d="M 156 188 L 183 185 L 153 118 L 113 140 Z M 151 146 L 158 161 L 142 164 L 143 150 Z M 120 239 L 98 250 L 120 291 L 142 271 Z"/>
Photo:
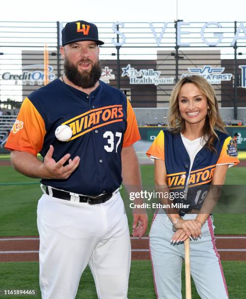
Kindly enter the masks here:
<path id="1" fill-rule="evenodd" d="M 184 219 L 195 219 L 186 214 Z M 190 241 L 190 273 L 202 299 L 227 299 L 227 285 L 215 246 L 211 216 L 202 227 L 202 237 Z M 184 242 L 171 243 L 172 223 L 164 210 L 154 215 L 150 231 L 150 254 L 158 299 L 181 299 L 181 269 Z"/>

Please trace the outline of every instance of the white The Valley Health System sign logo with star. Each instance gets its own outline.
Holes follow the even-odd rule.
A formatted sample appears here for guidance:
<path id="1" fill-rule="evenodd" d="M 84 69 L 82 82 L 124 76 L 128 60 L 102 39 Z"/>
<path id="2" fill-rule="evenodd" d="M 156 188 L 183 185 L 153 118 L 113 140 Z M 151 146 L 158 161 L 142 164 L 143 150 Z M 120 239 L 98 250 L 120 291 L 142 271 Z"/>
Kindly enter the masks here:
<path id="1" fill-rule="evenodd" d="M 121 77 L 128 76 L 130 84 L 172 84 L 174 78 L 159 78 L 161 72 L 154 70 L 153 68 L 137 70 L 128 64 L 126 67 L 122 67 Z"/>

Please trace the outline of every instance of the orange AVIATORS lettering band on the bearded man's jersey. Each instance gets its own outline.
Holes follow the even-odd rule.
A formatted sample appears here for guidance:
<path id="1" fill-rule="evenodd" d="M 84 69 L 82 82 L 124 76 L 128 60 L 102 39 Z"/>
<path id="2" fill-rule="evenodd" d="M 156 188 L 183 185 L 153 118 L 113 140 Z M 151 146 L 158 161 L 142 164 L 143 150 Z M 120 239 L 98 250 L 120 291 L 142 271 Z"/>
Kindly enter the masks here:
<path id="1" fill-rule="evenodd" d="M 100 128 L 116 122 L 122 122 L 122 109 L 122 105 L 113 105 L 89 110 L 64 122 L 62 125 L 67 125 L 72 129 L 73 135 L 70 140 L 73 140 L 95 128 Z"/>

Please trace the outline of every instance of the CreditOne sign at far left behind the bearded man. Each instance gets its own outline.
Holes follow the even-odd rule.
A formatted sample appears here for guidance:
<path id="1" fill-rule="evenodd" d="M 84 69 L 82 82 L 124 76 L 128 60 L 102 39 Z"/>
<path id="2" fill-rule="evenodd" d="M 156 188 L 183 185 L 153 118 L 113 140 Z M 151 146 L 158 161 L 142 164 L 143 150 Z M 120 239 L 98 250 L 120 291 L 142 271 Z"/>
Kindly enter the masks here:
<path id="1" fill-rule="evenodd" d="M 43 64 L 31 64 L 25 65 L 21 68 L 21 74 L 13 74 L 5 72 L 2 74 L 2 80 L 15 80 L 22 81 L 22 85 L 43 85 L 44 84 L 44 65 Z M 53 73 L 53 67 L 48 66 L 48 79 L 53 81 L 56 75 Z"/>

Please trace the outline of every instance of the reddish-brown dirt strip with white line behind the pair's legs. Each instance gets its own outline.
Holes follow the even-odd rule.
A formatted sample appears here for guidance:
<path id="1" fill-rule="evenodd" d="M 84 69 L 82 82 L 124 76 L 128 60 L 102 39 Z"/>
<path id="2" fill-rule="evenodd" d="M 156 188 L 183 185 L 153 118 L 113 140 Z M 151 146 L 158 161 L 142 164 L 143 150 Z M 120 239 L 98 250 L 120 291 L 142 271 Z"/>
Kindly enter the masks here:
<path id="1" fill-rule="evenodd" d="M 246 260 L 246 235 L 216 235 L 222 260 Z M 131 237 L 132 260 L 147 260 L 149 237 Z M 38 261 L 38 236 L 0 237 L 0 261 Z"/>

